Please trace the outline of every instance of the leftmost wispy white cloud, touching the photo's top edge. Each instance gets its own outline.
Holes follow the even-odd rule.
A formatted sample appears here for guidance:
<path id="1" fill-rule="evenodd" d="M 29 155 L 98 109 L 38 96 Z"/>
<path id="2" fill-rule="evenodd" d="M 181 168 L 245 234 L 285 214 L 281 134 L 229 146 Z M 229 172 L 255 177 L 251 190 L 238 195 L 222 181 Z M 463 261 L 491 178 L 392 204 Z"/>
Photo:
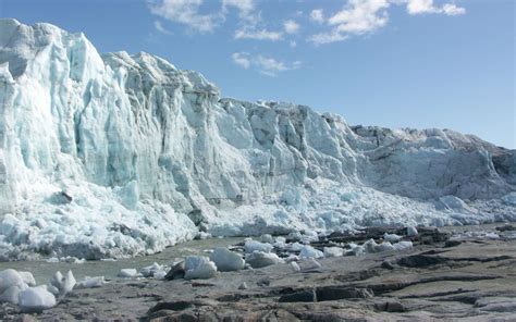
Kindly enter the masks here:
<path id="1" fill-rule="evenodd" d="M 201 14 L 202 0 L 160 0 L 150 3 L 150 12 L 171 22 L 186 25 L 197 32 L 212 32 L 220 23 L 221 15 Z"/>

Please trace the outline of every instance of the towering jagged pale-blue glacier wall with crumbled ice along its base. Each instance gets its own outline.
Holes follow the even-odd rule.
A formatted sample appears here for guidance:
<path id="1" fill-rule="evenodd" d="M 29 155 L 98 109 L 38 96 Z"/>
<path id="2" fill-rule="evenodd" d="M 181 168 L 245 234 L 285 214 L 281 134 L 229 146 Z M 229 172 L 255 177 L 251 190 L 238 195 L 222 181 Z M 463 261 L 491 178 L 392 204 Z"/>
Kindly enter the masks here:
<path id="1" fill-rule="evenodd" d="M 0 20 L 0 101 L 4 259 L 144 255 L 199 228 L 516 220 L 514 150 L 221 98 L 196 72 L 100 55 L 49 24 Z"/>

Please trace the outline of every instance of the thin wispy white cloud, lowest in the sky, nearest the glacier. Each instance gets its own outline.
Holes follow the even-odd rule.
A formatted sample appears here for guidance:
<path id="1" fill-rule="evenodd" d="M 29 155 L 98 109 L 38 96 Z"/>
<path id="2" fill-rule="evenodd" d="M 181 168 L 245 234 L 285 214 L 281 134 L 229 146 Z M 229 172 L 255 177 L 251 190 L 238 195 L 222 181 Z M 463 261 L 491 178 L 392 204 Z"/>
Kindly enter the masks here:
<path id="1" fill-rule="evenodd" d="M 297 70 L 302 66 L 300 61 L 285 63 L 261 54 L 251 55 L 248 52 L 235 52 L 232 54 L 232 59 L 235 64 L 243 69 L 253 67 L 260 74 L 271 77 L 278 76 L 281 72 Z"/>

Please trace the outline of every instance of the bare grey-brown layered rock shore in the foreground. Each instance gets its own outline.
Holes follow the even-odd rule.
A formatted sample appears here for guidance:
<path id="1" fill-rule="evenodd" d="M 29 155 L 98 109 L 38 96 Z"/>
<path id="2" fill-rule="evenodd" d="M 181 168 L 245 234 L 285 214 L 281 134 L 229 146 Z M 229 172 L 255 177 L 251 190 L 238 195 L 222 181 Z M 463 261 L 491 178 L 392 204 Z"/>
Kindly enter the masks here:
<path id="1" fill-rule="evenodd" d="M 59 304 L 27 314 L 3 304 L 2 321 L 514 321 L 516 227 L 367 228 L 311 242 L 324 258 L 218 272 L 206 280 L 120 278 L 74 289 Z M 411 248 L 379 249 L 401 237 Z M 349 245 L 373 247 L 363 255 Z M 292 244 L 294 240 L 286 240 Z M 244 243 L 230 247 L 245 251 Z M 324 249 L 324 247 L 327 249 Z M 329 257 L 329 247 L 344 256 Z M 356 249 L 356 248 L 355 248 Z M 372 248 L 371 248 L 372 249 Z M 302 250 L 303 251 L 303 250 Z M 294 252 L 295 253 L 295 252 Z M 298 255 L 297 255 L 298 256 Z M 317 256 L 316 256 L 317 257 Z M 295 264 L 293 264 L 295 263 Z M 169 274 L 169 278 L 171 274 Z M 180 276 L 181 277 L 181 276 Z"/>

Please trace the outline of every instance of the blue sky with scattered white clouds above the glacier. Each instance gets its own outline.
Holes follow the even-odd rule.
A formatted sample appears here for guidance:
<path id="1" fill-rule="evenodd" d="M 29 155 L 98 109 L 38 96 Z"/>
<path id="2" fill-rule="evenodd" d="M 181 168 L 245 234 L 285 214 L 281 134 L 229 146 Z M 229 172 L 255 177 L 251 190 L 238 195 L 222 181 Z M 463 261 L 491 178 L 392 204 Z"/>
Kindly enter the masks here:
<path id="1" fill-rule="evenodd" d="M 513 0 L 0 0 L 0 15 L 158 54 L 225 97 L 516 148 Z"/>

